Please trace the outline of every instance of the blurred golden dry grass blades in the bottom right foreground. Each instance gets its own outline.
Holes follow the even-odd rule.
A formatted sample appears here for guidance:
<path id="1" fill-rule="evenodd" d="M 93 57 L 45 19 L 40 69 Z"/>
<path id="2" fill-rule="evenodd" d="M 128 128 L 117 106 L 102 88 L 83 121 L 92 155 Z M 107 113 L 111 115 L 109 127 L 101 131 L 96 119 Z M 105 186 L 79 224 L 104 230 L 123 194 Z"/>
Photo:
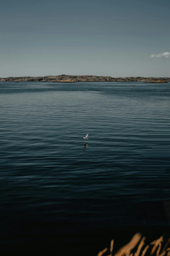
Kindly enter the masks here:
<path id="1" fill-rule="evenodd" d="M 131 241 L 125 246 L 121 247 L 116 253 L 113 253 L 114 240 L 112 240 L 109 254 L 108 248 L 105 248 L 104 250 L 100 251 L 97 256 L 170 256 L 170 247 L 168 247 L 170 244 L 170 238 L 164 247 L 163 236 L 151 242 L 149 245 L 145 245 L 145 239 L 146 237 L 142 238 L 140 233 L 136 233 Z"/>

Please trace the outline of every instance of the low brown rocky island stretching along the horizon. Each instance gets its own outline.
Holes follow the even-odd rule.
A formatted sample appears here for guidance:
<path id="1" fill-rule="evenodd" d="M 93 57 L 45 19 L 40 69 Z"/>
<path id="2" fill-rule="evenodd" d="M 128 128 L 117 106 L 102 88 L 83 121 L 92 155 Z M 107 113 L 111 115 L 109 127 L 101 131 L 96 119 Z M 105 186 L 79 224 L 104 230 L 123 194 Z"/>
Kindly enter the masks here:
<path id="1" fill-rule="evenodd" d="M 37 82 L 148 82 L 148 83 L 166 83 L 170 81 L 170 77 L 103 77 L 103 76 L 45 76 L 45 77 L 7 77 L 0 78 L 0 81 L 37 81 Z"/>

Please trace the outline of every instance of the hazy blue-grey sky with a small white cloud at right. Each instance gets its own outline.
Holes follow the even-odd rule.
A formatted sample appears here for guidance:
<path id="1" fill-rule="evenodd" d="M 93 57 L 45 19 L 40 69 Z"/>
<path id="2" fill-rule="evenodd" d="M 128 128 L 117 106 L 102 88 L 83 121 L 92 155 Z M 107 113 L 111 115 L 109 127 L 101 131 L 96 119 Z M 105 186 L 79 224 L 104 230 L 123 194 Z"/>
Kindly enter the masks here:
<path id="1" fill-rule="evenodd" d="M 0 77 L 170 77 L 169 0 L 1 0 Z"/>

